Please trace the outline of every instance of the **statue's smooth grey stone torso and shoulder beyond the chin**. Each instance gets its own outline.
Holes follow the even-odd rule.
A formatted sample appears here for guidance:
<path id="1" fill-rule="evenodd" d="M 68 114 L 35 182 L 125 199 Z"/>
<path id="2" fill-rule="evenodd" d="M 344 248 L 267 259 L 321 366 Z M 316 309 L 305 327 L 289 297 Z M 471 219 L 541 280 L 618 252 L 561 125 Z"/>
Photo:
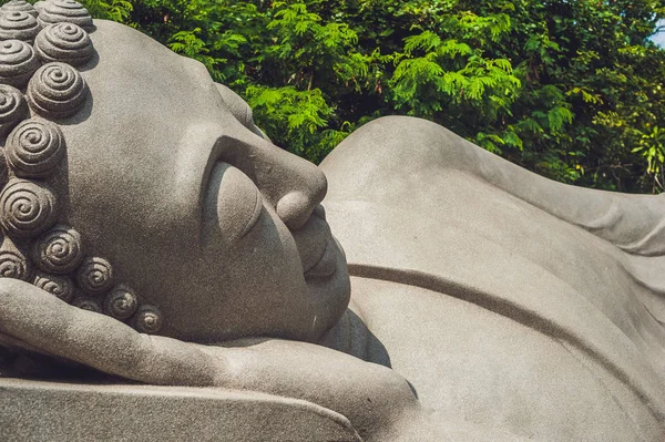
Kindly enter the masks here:
<path id="1" fill-rule="evenodd" d="M 423 405 L 536 440 L 663 439 L 665 197 L 554 183 L 409 117 L 321 168 L 370 359 Z"/>

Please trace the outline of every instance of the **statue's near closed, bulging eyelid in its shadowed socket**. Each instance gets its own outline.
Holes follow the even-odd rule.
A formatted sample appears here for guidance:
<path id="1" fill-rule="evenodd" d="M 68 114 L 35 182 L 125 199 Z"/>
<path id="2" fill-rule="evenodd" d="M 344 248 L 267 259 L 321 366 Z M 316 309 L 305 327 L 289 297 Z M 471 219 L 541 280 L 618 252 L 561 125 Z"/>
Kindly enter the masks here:
<path id="1" fill-rule="evenodd" d="M 204 245 L 228 248 L 256 223 L 262 210 L 258 188 L 239 169 L 217 163 L 203 202 Z"/>

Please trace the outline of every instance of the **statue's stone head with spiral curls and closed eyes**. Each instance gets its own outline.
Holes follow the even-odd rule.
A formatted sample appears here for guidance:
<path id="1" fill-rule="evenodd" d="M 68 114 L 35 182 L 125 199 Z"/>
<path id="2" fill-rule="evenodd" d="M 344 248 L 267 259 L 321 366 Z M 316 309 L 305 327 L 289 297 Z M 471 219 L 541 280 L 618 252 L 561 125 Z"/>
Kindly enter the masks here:
<path id="1" fill-rule="evenodd" d="M 0 274 L 187 340 L 335 325 L 349 278 L 321 172 L 201 63 L 73 1 L 37 7 L 0 10 L 0 32 L 39 29 L 0 41 Z"/>

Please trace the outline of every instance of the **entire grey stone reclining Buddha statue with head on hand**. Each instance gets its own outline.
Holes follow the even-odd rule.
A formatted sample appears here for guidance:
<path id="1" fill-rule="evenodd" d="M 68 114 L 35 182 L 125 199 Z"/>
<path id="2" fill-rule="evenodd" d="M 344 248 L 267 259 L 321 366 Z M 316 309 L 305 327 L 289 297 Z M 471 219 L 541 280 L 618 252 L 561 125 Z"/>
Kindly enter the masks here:
<path id="1" fill-rule="evenodd" d="M 663 197 L 403 116 L 317 167 L 71 0 L 0 40 L 0 440 L 665 440 Z"/>

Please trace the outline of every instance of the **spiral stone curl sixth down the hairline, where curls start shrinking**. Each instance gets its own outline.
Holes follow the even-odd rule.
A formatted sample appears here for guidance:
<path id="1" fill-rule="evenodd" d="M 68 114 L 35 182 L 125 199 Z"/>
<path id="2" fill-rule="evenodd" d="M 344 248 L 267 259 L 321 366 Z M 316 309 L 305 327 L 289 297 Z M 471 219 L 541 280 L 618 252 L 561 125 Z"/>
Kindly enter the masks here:
<path id="1" fill-rule="evenodd" d="M 42 270 L 65 275 L 83 260 L 81 235 L 71 227 L 55 226 L 32 245 L 32 260 Z"/>

